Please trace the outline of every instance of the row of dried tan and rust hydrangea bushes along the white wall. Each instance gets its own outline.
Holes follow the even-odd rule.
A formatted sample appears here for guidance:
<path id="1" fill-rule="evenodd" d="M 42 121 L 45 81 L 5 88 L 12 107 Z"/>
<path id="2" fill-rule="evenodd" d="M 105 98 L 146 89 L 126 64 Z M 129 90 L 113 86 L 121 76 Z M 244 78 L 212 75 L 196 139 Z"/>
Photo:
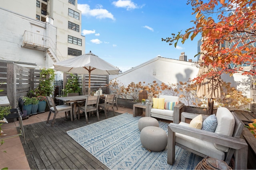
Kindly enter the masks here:
<path id="1" fill-rule="evenodd" d="M 108 88 L 110 93 L 118 94 L 118 98 L 132 99 L 137 102 L 140 102 L 138 100 L 140 90 L 146 90 L 150 102 L 152 102 L 152 98 L 157 98 L 160 94 L 164 94 L 178 96 L 180 102 L 184 103 L 185 106 L 206 108 L 208 104 L 205 96 L 198 97 L 196 95 L 196 83 L 192 81 L 174 84 L 158 84 L 156 81 L 148 84 L 145 82 L 131 82 L 126 87 L 116 80 L 111 80 Z M 222 82 L 220 90 L 222 95 L 215 100 L 214 108 L 226 107 L 229 110 L 243 109 L 252 102 L 251 98 L 243 96 L 242 92 L 230 86 L 230 83 Z"/>

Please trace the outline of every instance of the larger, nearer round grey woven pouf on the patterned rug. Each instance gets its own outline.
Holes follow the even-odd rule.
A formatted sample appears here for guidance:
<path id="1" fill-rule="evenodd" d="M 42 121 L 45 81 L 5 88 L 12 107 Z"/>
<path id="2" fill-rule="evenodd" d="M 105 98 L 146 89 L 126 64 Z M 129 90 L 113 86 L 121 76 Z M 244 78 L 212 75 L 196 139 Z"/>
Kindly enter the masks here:
<path id="1" fill-rule="evenodd" d="M 140 142 L 144 148 L 159 152 L 167 146 L 167 134 L 160 127 L 144 127 L 140 132 Z"/>

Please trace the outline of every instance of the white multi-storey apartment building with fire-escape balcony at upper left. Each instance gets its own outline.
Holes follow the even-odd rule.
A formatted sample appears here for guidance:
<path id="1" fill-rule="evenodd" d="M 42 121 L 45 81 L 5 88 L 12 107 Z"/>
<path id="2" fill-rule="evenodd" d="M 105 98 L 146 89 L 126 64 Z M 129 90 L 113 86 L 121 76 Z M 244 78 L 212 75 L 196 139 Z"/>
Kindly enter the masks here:
<path id="1" fill-rule="evenodd" d="M 76 0 L 1 0 L 0 60 L 29 68 L 85 53 Z"/>

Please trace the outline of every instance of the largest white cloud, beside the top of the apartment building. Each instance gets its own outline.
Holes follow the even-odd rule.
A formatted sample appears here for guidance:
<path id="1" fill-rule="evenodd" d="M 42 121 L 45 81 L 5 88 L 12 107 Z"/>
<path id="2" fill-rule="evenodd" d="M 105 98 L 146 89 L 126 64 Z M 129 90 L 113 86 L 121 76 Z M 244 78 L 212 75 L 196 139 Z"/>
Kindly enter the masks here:
<path id="1" fill-rule="evenodd" d="M 108 10 L 102 9 L 102 5 L 97 5 L 95 9 L 90 9 L 88 4 L 77 4 L 78 10 L 82 11 L 82 15 L 93 16 L 97 19 L 110 18 L 115 20 L 114 16 Z"/>

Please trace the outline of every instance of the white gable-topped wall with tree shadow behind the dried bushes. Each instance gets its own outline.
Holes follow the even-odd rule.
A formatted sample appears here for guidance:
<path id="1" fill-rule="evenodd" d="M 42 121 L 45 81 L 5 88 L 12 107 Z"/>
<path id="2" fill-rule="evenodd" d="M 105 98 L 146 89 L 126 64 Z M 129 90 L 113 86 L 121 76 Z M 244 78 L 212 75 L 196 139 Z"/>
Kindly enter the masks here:
<path id="1" fill-rule="evenodd" d="M 127 86 L 131 82 L 146 82 L 152 83 L 154 80 L 161 84 L 172 84 L 178 82 L 187 82 L 190 79 L 196 78 L 199 68 L 195 63 L 180 61 L 175 59 L 167 59 L 155 57 L 146 63 L 140 64 L 122 74 L 118 74 L 110 78 L 115 79 Z M 156 72 L 156 75 L 153 75 Z M 231 86 L 243 92 L 243 95 L 252 98 L 250 93 L 250 78 L 241 74 L 229 76 L 222 74 L 221 78 L 225 82 L 231 82 Z"/>

